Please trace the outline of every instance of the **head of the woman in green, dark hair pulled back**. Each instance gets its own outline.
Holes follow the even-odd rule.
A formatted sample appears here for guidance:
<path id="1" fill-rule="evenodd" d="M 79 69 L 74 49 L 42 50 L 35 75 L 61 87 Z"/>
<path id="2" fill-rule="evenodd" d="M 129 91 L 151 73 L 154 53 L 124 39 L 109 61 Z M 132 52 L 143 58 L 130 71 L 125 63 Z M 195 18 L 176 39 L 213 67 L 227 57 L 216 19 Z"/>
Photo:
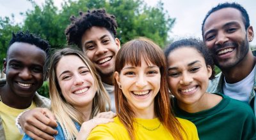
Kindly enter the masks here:
<path id="1" fill-rule="evenodd" d="M 205 94 L 209 79 L 214 78 L 214 64 L 203 41 L 181 39 L 165 50 L 168 83 L 178 104 L 193 104 Z"/>

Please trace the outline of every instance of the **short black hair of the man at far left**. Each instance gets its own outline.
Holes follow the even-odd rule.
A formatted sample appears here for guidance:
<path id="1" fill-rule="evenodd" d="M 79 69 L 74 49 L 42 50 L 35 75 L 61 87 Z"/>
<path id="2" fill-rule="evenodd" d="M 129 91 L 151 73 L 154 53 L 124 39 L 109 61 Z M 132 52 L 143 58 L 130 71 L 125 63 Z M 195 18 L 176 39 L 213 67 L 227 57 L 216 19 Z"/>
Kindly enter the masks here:
<path id="1" fill-rule="evenodd" d="M 40 38 L 39 36 L 36 36 L 36 34 L 30 33 L 29 31 L 26 31 L 26 32 L 19 31 L 17 32 L 17 34 L 14 34 L 14 32 L 12 32 L 12 39 L 10 40 L 8 50 L 10 46 L 15 42 L 29 43 L 31 45 L 35 45 L 41 50 L 44 50 L 47 56 L 49 55 L 49 50 L 51 48 L 48 41 L 45 41 L 44 39 Z M 8 50 L 7 50 L 7 55 L 8 55 Z"/>

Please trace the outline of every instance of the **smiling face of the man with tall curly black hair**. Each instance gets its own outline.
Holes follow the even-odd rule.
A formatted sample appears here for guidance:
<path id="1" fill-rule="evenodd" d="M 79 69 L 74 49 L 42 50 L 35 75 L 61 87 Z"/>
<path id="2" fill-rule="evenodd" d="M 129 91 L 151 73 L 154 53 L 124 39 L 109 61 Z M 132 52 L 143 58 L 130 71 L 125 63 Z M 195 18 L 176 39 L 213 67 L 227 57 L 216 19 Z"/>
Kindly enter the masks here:
<path id="1" fill-rule="evenodd" d="M 93 62 L 100 76 L 112 76 L 120 41 L 114 39 L 106 28 L 93 26 L 84 32 L 81 44 L 84 54 Z"/>

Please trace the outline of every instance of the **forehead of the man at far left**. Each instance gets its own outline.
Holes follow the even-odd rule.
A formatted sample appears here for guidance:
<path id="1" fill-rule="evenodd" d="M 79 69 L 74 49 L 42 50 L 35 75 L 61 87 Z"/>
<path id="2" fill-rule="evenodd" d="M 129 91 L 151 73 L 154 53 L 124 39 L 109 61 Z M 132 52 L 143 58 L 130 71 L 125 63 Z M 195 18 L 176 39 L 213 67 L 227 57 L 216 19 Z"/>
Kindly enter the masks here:
<path id="1" fill-rule="evenodd" d="M 15 42 L 9 47 L 7 54 L 8 61 L 13 59 L 20 62 L 41 63 L 44 65 L 46 53 L 35 45 Z"/>

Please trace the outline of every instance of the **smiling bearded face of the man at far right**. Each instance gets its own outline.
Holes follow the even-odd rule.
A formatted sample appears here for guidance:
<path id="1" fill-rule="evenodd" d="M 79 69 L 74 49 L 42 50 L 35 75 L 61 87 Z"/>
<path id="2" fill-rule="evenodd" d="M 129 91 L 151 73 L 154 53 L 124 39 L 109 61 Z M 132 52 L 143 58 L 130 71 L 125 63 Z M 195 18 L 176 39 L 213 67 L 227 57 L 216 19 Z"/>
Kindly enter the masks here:
<path id="1" fill-rule="evenodd" d="M 239 10 L 223 8 L 205 20 L 203 38 L 216 66 L 230 69 L 248 54 L 248 39 L 253 39 L 253 29 L 245 29 Z"/>

